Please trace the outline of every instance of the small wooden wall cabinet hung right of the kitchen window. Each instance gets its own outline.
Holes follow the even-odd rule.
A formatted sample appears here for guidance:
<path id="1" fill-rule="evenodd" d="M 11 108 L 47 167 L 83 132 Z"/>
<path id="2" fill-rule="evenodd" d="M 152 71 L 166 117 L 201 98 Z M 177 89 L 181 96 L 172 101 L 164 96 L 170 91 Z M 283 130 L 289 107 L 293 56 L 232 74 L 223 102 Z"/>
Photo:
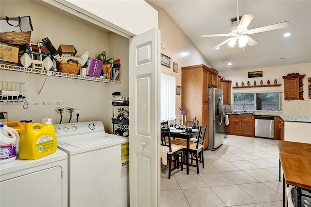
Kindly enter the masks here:
<path id="1" fill-rule="evenodd" d="M 304 100 L 303 82 L 305 75 L 287 75 L 284 79 L 284 100 Z"/>

